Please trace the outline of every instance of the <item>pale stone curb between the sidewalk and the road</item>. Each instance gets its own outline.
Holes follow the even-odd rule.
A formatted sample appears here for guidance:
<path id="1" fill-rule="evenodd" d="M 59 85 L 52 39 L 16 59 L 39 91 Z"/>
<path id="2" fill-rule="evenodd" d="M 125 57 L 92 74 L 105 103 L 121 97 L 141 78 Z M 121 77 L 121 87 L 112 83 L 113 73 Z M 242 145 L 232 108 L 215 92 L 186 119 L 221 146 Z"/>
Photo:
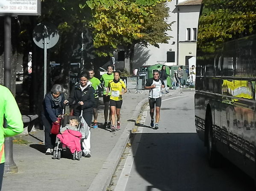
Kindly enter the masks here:
<path id="1" fill-rule="evenodd" d="M 106 191 L 112 179 L 112 175 L 114 174 L 118 162 L 121 158 L 121 155 L 124 152 L 126 144 L 129 140 L 131 130 L 134 127 L 137 117 L 141 111 L 141 107 L 144 105 L 144 103 L 147 102 L 147 100 L 148 97 L 144 100 L 141 100 L 136 106 L 135 111 L 130 119 L 132 121 L 128 121 L 123 133 L 121 134 L 114 148 L 107 157 L 106 162 L 103 163 L 103 166 L 100 169 L 99 173 L 91 182 L 91 185 L 89 186 L 87 191 Z M 135 122 L 133 120 L 135 120 Z"/>

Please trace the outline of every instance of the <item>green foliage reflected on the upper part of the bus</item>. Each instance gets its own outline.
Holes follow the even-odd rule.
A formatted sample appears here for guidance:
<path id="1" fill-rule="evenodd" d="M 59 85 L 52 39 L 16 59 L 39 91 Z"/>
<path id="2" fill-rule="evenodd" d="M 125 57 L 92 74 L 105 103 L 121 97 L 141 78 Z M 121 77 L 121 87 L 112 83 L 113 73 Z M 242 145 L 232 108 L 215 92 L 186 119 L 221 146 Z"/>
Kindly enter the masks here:
<path id="1" fill-rule="evenodd" d="M 198 46 L 247 36 L 256 30 L 256 0 L 204 0 Z"/>

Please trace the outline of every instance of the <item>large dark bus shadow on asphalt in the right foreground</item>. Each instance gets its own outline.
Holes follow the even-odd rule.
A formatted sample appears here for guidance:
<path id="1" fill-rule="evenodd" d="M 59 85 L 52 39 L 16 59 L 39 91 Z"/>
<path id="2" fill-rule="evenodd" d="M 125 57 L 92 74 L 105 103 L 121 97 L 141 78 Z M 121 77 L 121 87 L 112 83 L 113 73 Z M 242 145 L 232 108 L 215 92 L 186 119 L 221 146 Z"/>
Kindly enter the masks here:
<path id="1" fill-rule="evenodd" d="M 138 174 L 151 184 L 145 185 L 146 191 L 254 190 L 253 180 L 229 161 L 223 160 L 221 168 L 210 168 L 196 133 L 140 135 L 134 163 Z"/>

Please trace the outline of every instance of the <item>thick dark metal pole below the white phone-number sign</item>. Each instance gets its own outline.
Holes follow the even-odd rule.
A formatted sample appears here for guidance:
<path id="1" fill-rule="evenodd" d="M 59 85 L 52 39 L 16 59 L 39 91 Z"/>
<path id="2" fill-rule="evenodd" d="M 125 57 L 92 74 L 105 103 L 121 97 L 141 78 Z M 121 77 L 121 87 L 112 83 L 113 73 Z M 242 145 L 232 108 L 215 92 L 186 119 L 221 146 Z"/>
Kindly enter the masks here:
<path id="1" fill-rule="evenodd" d="M 4 17 L 4 85 L 11 88 L 11 17 Z M 4 125 L 6 126 L 6 125 Z M 12 137 L 6 137 L 4 142 L 5 150 L 5 173 L 18 172 L 18 167 L 13 160 Z"/>

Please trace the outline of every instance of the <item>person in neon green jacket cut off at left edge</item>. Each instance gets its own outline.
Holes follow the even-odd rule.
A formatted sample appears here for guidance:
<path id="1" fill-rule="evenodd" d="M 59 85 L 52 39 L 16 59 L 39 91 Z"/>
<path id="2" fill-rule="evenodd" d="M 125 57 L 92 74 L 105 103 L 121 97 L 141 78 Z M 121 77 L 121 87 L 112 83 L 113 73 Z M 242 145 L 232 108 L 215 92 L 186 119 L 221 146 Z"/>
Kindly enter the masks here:
<path id="1" fill-rule="evenodd" d="M 4 138 L 12 137 L 23 132 L 23 122 L 20 109 L 12 92 L 0 85 L 0 190 L 2 188 L 4 171 Z M 6 120 L 6 127 L 3 121 Z"/>

